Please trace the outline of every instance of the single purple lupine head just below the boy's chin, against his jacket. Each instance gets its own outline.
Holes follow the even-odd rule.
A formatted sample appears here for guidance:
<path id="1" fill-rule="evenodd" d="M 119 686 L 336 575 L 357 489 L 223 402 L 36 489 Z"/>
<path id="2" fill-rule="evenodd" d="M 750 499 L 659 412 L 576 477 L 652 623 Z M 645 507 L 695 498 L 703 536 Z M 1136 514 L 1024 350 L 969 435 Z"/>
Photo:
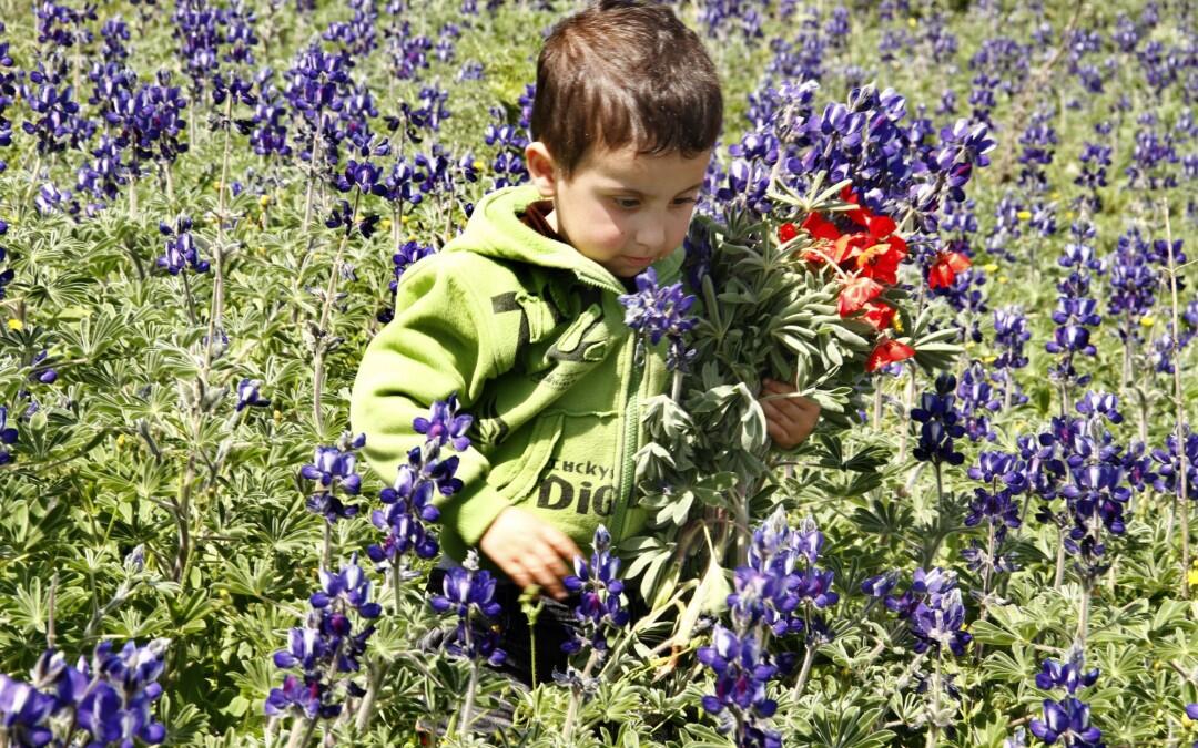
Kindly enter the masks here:
<path id="1" fill-rule="evenodd" d="M 695 305 L 695 297 L 683 293 L 682 281 L 659 286 L 658 272 L 649 268 L 636 276 L 636 293 L 621 294 L 619 303 L 624 305 L 624 324 L 647 335 L 651 343 L 655 346 L 668 337 L 666 366 L 674 372 L 671 396 L 677 402 L 682 395 L 682 373 L 695 358 L 695 351 L 689 349 L 684 340 L 697 323 L 686 316 Z"/>

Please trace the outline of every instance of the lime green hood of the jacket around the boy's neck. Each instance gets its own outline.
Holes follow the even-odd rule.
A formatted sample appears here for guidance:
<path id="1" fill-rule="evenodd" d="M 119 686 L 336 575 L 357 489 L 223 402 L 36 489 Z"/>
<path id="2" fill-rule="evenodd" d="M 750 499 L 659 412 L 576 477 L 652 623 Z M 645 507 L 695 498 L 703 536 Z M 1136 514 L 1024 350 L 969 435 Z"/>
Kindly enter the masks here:
<path id="1" fill-rule="evenodd" d="M 506 187 L 485 195 L 474 206 L 466 230 L 441 251 L 472 251 L 498 260 L 515 260 L 547 268 L 570 270 L 591 285 L 627 293 L 621 279 L 607 268 L 585 256 L 569 244 L 555 242 L 526 226 L 520 214 L 528 205 L 541 200 L 532 184 Z M 661 280 L 672 278 L 682 267 L 683 251 L 677 249 L 653 263 Z"/>

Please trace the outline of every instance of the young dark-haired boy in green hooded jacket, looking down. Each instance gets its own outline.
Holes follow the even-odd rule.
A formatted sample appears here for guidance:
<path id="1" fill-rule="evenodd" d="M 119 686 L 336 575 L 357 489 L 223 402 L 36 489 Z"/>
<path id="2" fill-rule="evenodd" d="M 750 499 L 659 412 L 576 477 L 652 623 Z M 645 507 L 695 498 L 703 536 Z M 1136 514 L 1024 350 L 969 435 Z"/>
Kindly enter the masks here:
<path id="1" fill-rule="evenodd" d="M 559 23 L 537 62 L 532 183 L 485 196 L 461 236 L 403 276 L 395 317 L 363 358 L 350 419 L 383 480 L 423 439 L 412 419 L 434 400 L 456 393 L 476 419 L 465 488 L 440 507 L 430 588 L 482 551 L 498 572 L 503 667 L 526 685 L 521 590 L 552 598 L 537 622 L 544 682 L 565 669 L 574 557 L 599 524 L 618 543 L 646 523 L 629 503 L 633 455 L 640 403 L 666 388 L 666 342 L 639 358 L 617 297 L 651 266 L 678 279 L 721 117 L 714 66 L 667 7 L 605 0 Z M 793 391 L 767 383 L 762 396 Z M 818 416 L 801 399 L 762 405 L 783 448 Z"/>

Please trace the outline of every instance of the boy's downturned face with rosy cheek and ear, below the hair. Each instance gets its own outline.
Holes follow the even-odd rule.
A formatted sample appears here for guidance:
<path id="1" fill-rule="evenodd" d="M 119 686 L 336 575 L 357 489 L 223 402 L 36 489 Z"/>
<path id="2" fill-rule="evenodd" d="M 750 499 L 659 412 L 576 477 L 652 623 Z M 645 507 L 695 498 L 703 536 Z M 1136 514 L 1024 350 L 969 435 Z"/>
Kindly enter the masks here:
<path id="1" fill-rule="evenodd" d="M 533 184 L 553 199 L 549 224 L 616 278 L 635 276 L 682 244 L 710 157 L 592 148 L 567 180 L 543 142 L 525 150 Z"/>

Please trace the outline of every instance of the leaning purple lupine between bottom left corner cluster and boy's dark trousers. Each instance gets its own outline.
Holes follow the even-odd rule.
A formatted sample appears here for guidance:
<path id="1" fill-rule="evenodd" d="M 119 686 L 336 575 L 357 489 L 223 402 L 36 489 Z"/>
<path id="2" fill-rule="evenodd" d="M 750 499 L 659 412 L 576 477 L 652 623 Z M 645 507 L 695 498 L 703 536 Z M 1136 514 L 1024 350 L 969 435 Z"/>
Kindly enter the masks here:
<path id="1" fill-rule="evenodd" d="M 357 554 L 339 572 L 321 570 L 321 589 L 313 592 L 311 610 L 303 628 L 292 628 L 288 649 L 274 653 L 274 664 L 288 673 L 280 688 L 271 689 L 266 699 L 266 714 L 295 717 L 291 728 L 291 748 L 303 748 L 321 719 L 341 713 L 343 699 L 362 697 L 365 691 L 339 674 L 357 673 L 374 625 L 357 627 L 352 618 L 363 621 L 379 618 L 382 607 L 370 602 L 370 580 L 358 566 Z M 352 614 L 352 616 L 351 616 Z"/>

